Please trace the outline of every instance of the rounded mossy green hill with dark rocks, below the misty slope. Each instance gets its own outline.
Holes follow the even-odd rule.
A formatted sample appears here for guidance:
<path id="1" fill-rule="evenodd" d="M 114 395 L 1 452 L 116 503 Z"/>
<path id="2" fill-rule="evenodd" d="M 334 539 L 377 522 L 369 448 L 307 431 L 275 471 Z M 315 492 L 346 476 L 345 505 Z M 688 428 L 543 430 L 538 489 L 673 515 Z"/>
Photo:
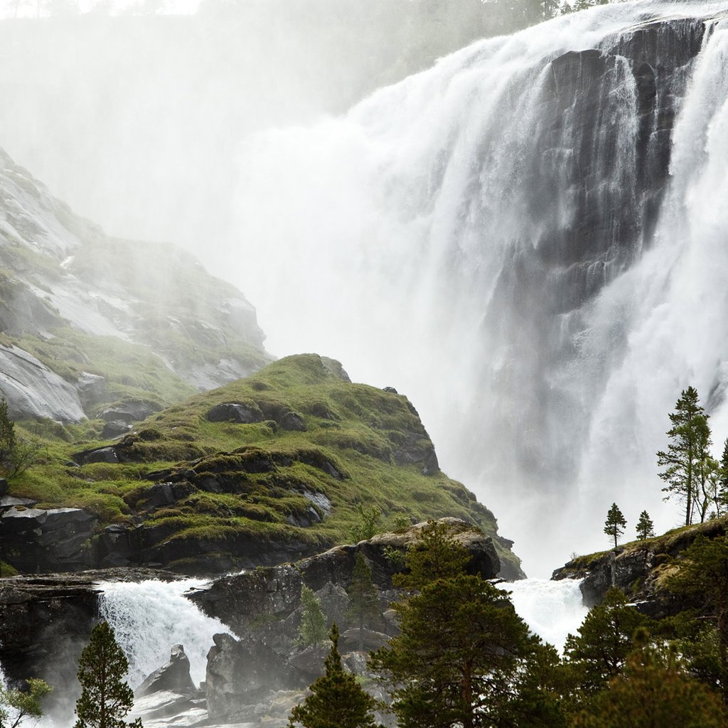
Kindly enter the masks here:
<path id="1" fill-rule="evenodd" d="M 101 427 L 34 424 L 49 456 L 12 488 L 41 508 L 98 517 L 89 566 L 198 573 L 286 561 L 350 541 L 363 506 L 381 512 L 382 529 L 471 521 L 494 537 L 504 573 L 521 573 L 494 515 L 440 472 L 407 398 L 352 384 L 325 357 L 279 360 L 112 443 L 93 438 Z"/>

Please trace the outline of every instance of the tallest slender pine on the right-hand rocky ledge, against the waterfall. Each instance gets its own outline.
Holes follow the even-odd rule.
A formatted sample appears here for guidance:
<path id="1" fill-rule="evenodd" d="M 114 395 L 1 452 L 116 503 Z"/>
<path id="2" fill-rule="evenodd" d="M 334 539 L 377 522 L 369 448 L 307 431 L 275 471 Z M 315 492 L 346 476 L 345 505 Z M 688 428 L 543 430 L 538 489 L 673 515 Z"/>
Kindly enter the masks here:
<path id="1" fill-rule="evenodd" d="M 670 443 L 667 451 L 657 453 L 657 465 L 665 468 L 660 472 L 660 478 L 667 483 L 662 488 L 667 493 L 665 500 L 674 495 L 684 502 L 685 525 L 689 526 L 695 508 L 699 464 L 708 456 L 710 446 L 708 416 L 698 403 L 695 387 L 683 389 L 669 417 Z"/>

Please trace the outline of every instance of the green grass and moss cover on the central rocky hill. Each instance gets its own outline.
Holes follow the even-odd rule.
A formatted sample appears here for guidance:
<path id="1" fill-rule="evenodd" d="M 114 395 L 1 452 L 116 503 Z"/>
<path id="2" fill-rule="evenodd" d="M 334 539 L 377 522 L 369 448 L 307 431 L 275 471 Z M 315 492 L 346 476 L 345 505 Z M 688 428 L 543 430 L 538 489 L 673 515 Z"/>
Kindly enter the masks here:
<path id="1" fill-rule="evenodd" d="M 213 405 L 237 402 L 261 411 L 263 422 L 208 422 Z M 306 431 L 287 431 L 272 420 L 293 411 Z M 402 448 L 431 446 L 406 397 L 341 379 L 317 355 L 288 357 L 248 379 L 191 397 L 140 424 L 124 440 L 123 464 L 67 467 L 71 455 L 95 441 L 100 422 L 74 427 L 36 424 L 50 440 L 47 463 L 15 482 L 14 494 L 42 506 L 84 507 L 105 523 L 159 526 L 172 539 L 210 539 L 223 550 L 236 534 L 288 537 L 326 547 L 347 542 L 357 523 L 357 502 L 374 505 L 391 527 L 399 514 L 422 520 L 445 515 L 475 521 L 496 535 L 493 514 L 461 483 L 441 472 L 422 475 L 422 464 L 395 464 Z M 343 475 L 331 475 L 331 466 Z M 157 510 L 148 507 L 149 472 L 160 480 L 218 478 L 237 492 L 194 490 Z M 331 513 L 307 528 L 291 525 L 311 502 L 302 491 L 323 493 Z M 321 512 L 320 512 L 321 513 Z M 323 515 L 323 513 L 322 513 Z M 500 544 L 502 559 L 518 559 Z"/>

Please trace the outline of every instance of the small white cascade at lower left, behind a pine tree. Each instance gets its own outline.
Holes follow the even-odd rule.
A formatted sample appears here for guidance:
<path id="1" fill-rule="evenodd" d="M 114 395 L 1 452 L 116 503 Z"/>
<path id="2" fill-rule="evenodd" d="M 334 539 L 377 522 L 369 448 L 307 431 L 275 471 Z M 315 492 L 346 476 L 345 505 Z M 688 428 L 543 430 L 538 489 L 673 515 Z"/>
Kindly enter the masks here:
<path id="1" fill-rule="evenodd" d="M 185 579 L 99 585 L 103 590 L 101 615 L 114 628 L 116 641 L 129 660 L 131 687 L 137 687 L 149 673 L 169 661 L 173 644 L 184 646 L 194 683 L 205 679 L 213 634 L 230 630 L 219 620 L 206 617 L 183 596 L 203 584 L 200 579 Z"/>

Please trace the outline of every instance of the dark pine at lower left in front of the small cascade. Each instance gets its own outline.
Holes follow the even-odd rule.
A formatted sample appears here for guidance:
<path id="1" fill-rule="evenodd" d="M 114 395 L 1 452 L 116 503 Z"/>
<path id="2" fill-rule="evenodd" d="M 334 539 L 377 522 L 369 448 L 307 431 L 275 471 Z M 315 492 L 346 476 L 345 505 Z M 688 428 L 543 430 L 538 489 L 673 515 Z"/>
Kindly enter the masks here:
<path id="1" fill-rule="evenodd" d="M 99 622 L 79 660 L 81 697 L 76 701 L 74 728 L 126 728 L 124 716 L 134 705 L 134 693 L 124 676 L 129 662 L 108 622 Z M 142 728 L 136 719 L 132 728 Z"/>

